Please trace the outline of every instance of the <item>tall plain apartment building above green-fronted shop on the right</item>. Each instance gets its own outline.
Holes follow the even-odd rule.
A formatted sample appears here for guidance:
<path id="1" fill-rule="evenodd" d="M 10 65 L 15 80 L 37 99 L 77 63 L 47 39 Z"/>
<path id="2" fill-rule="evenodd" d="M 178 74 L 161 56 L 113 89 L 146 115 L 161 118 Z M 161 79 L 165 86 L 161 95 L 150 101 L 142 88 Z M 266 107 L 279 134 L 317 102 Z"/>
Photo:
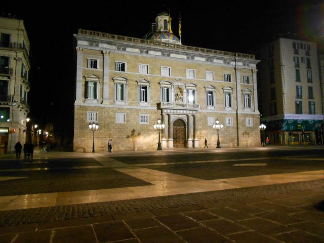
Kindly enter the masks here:
<path id="1" fill-rule="evenodd" d="M 315 43 L 278 38 L 260 49 L 261 120 L 274 144 L 322 143 L 322 99 Z"/>

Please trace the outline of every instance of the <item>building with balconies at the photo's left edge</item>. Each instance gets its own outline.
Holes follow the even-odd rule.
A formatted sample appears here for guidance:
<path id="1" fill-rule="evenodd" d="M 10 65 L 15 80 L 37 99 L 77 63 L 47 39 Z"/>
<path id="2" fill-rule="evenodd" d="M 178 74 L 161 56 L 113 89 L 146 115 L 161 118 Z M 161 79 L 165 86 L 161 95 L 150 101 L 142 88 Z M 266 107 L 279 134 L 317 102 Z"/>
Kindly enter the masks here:
<path id="1" fill-rule="evenodd" d="M 0 153 L 26 139 L 29 40 L 23 20 L 0 17 Z"/>

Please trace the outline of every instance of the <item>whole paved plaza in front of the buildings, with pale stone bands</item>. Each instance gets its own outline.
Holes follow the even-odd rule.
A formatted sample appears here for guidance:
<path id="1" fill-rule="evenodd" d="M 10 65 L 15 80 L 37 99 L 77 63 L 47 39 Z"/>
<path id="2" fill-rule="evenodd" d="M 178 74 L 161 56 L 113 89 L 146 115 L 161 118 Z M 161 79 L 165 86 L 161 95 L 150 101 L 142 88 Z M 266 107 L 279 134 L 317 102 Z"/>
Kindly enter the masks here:
<path id="1" fill-rule="evenodd" d="M 324 242 L 324 147 L 0 157 L 0 242 Z"/>

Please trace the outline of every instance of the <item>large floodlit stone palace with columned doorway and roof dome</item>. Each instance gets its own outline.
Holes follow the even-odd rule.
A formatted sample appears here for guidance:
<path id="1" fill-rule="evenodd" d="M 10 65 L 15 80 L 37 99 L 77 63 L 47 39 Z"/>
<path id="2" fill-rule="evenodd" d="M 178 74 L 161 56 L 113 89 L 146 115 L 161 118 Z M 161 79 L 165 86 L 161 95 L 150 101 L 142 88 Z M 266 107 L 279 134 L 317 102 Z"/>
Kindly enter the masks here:
<path id="1" fill-rule="evenodd" d="M 74 151 L 216 147 L 260 144 L 258 60 L 254 55 L 182 45 L 160 12 L 146 38 L 79 29 L 74 34 Z"/>

